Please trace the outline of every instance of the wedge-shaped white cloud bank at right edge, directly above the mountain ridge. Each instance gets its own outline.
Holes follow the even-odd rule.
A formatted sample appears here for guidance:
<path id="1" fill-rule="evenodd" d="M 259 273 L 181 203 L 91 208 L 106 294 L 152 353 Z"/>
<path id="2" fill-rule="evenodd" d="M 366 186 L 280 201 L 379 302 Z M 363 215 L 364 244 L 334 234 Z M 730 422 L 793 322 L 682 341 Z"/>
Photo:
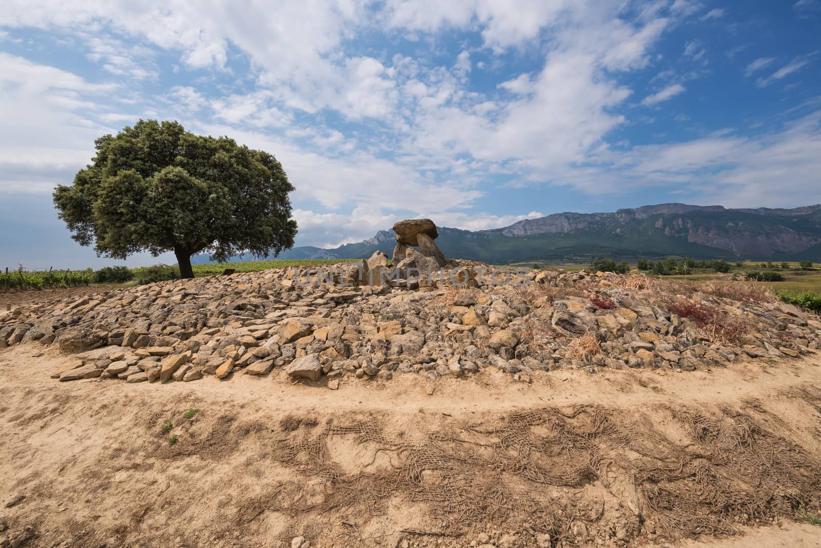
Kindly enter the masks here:
<path id="1" fill-rule="evenodd" d="M 720 132 L 626 153 L 607 151 L 591 157 L 590 165 L 586 174 L 570 174 L 567 183 L 591 193 L 677 187 L 690 201 L 728 207 L 821 203 L 821 111 L 758 137 Z"/>

